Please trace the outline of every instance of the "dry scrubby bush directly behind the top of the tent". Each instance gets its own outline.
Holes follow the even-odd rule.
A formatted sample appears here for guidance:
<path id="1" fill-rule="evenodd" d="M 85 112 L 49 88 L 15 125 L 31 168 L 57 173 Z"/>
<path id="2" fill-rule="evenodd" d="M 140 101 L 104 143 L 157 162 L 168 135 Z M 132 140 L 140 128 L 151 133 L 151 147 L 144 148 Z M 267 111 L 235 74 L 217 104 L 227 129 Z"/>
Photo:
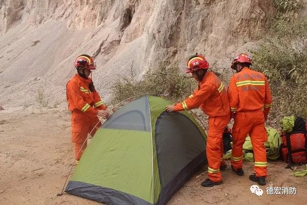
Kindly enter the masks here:
<path id="1" fill-rule="evenodd" d="M 188 76 L 180 74 L 178 68 L 161 66 L 157 72 L 148 70 L 140 81 L 136 80 L 133 66 L 130 76 L 118 80 L 113 87 L 112 103 L 119 103 L 139 94 L 162 94 L 171 100 L 182 100 L 189 96 L 195 84 Z"/>

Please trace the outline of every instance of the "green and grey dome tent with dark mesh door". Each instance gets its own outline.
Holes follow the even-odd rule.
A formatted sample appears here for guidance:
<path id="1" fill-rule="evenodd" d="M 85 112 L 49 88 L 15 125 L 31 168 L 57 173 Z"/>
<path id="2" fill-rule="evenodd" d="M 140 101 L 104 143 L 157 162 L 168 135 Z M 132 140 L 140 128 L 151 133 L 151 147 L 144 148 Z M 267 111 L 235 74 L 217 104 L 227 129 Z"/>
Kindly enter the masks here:
<path id="1" fill-rule="evenodd" d="M 205 133 L 161 97 L 131 101 L 104 122 L 65 192 L 106 204 L 166 204 L 206 162 Z"/>

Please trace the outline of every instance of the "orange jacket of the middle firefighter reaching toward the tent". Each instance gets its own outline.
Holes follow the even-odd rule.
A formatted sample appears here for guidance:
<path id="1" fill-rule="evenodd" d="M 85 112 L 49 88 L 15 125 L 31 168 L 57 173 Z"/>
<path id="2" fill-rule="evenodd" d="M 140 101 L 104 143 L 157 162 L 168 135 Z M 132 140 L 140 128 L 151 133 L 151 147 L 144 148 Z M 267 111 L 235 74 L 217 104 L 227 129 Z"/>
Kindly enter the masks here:
<path id="1" fill-rule="evenodd" d="M 198 107 L 210 117 L 230 116 L 227 91 L 220 78 L 212 72 L 207 71 L 199 83 L 199 89 L 182 103 L 176 104 L 175 110 L 190 110 Z"/>

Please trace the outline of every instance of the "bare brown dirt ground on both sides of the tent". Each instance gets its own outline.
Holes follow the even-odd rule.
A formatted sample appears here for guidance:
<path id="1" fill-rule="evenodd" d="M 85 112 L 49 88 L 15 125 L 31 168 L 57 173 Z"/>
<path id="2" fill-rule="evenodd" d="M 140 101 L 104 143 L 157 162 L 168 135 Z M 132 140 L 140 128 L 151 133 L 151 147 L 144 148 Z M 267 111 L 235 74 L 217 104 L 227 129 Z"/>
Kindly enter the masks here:
<path id="1" fill-rule="evenodd" d="M 65 108 L 14 108 L 0 111 L 0 204 L 99 204 L 60 193 L 73 159 L 70 114 Z M 229 165 L 229 161 L 227 162 Z M 174 204 L 303 204 L 307 201 L 307 176 L 298 178 L 282 161 L 269 163 L 268 185 L 295 187 L 296 195 L 257 196 L 248 179 L 253 163 L 245 162 L 239 177 L 230 166 L 223 171 L 224 183 L 203 188 L 204 170 L 196 173 L 167 203 Z M 205 169 L 205 168 L 204 168 Z M 199 177 L 197 177 L 199 176 Z"/>

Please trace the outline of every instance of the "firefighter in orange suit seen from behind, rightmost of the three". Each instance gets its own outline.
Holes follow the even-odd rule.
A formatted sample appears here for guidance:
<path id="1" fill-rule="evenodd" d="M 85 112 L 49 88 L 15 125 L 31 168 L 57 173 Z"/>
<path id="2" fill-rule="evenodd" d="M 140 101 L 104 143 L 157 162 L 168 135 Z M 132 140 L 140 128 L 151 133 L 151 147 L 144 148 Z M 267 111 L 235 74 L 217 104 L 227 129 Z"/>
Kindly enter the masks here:
<path id="1" fill-rule="evenodd" d="M 272 95 L 266 76 L 250 69 L 252 61 L 247 54 L 239 54 L 231 68 L 236 70 L 230 79 L 228 98 L 234 117 L 232 128 L 231 169 L 239 176 L 244 174 L 243 144 L 249 134 L 254 150 L 256 174 L 249 176 L 250 180 L 259 185 L 266 185 L 267 154 L 264 143 L 268 140 L 265 129 Z"/>

